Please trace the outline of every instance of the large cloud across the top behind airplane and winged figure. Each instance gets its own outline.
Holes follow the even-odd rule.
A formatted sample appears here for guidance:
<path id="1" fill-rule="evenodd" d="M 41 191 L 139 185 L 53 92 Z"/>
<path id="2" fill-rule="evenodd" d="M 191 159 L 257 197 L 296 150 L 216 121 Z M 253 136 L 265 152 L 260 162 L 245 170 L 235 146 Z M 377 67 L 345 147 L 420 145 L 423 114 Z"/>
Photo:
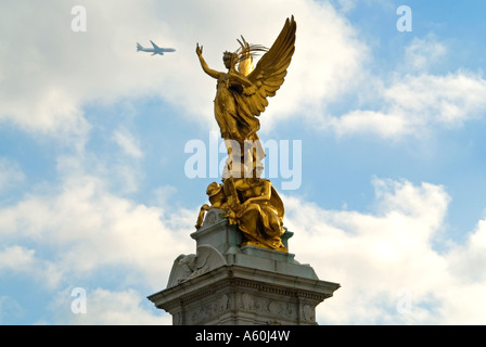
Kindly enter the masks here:
<path id="1" fill-rule="evenodd" d="M 215 127 L 216 81 L 199 66 L 195 43 L 204 44 L 208 64 L 222 70 L 221 54 L 238 48 L 240 35 L 271 46 L 292 14 L 298 26 L 297 50 L 279 101 L 271 100 L 265 113 L 268 124 L 320 107 L 347 90 L 361 70 L 366 48 L 328 2 L 247 1 L 252 16 L 222 0 L 189 2 L 85 1 L 86 33 L 71 29 L 74 2 L 54 1 L 49 9 L 11 2 L 0 15 L 0 28 L 22 34 L 4 37 L 0 49 L 4 67 L 0 120 L 30 131 L 82 138 L 90 128 L 85 104 L 158 95 L 193 120 Z M 162 57 L 136 52 L 136 42 L 149 39 L 177 52 Z"/>

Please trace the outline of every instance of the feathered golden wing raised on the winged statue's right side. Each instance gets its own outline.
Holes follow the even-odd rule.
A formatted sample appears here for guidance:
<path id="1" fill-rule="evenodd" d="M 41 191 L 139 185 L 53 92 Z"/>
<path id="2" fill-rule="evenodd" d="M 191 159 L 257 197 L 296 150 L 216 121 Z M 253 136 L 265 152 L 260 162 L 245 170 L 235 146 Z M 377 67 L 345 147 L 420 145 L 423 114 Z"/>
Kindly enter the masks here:
<path id="1" fill-rule="evenodd" d="M 282 86 L 295 50 L 296 28 L 294 16 L 286 18 L 285 25 L 272 47 L 261 56 L 255 69 L 247 76 L 252 86 L 243 88 L 242 93 L 235 95 L 242 116 L 259 116 L 268 106 L 267 98 L 274 97 L 277 90 Z"/>

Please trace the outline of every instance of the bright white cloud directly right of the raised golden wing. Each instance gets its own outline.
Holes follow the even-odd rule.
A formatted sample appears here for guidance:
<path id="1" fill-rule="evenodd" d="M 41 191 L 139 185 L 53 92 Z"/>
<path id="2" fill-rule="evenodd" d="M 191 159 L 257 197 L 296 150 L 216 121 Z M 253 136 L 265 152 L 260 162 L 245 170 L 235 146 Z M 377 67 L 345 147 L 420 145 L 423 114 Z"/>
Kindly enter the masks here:
<path id="1" fill-rule="evenodd" d="M 289 75 L 261 119 L 269 115 L 276 117 L 272 121 L 295 114 L 312 117 L 364 77 L 369 51 L 350 23 L 327 2 L 303 3 L 294 11 L 297 39 Z"/>

